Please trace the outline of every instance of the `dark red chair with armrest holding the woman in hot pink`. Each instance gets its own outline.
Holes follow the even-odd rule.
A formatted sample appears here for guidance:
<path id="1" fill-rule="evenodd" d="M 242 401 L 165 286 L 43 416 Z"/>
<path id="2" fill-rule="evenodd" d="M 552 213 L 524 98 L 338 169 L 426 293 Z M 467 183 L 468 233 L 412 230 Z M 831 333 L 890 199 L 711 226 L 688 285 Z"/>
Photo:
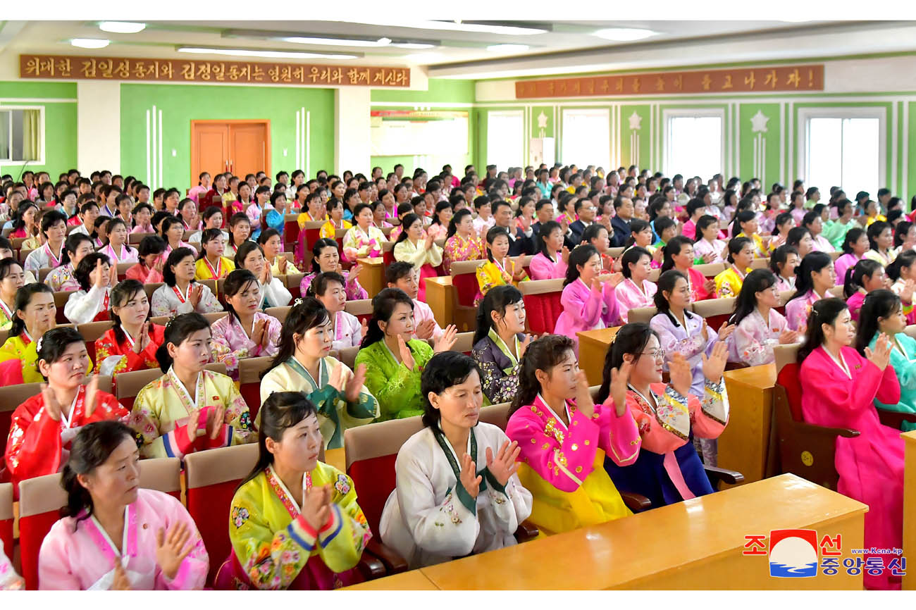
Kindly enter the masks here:
<path id="1" fill-rule="evenodd" d="M 839 474 L 834 466 L 837 437 L 859 435 L 858 430 L 829 428 L 805 423 L 802 417 L 802 383 L 799 380 L 799 345 L 777 345 L 776 385 L 773 411 L 779 440 L 780 473 L 797 474 L 817 485 L 836 491 Z"/>

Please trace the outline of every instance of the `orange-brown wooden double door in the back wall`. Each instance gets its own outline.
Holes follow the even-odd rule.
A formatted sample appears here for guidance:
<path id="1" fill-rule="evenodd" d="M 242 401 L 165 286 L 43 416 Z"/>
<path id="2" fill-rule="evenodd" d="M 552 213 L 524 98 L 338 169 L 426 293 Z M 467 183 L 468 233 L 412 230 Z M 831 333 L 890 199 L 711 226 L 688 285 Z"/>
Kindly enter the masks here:
<path id="1" fill-rule="evenodd" d="M 202 171 L 270 174 L 270 121 L 191 121 L 191 184 Z"/>

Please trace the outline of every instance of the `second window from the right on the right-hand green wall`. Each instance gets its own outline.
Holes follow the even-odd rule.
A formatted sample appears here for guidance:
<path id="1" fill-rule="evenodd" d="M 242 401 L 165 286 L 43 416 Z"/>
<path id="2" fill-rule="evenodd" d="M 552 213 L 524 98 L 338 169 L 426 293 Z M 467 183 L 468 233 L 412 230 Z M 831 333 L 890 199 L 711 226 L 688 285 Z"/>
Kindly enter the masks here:
<path id="1" fill-rule="evenodd" d="M 709 180 L 723 171 L 724 110 L 665 110 L 664 121 L 666 175 L 683 174 Z"/>

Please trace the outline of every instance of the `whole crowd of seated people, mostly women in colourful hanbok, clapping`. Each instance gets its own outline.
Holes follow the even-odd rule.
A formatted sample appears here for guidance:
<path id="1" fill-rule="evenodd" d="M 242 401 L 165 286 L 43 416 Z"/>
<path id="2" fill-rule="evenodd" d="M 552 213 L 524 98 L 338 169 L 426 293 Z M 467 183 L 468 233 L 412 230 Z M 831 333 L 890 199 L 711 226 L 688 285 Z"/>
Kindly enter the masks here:
<path id="1" fill-rule="evenodd" d="M 876 410 L 916 412 L 916 341 L 902 332 L 916 321 L 916 227 L 899 199 L 834 188 L 824 204 L 801 180 L 764 193 L 756 179 L 635 167 L 464 173 L 204 172 L 185 198 L 107 171 L 5 182 L 0 381 L 41 386 L 13 413 L 2 480 L 60 473 L 68 496 L 41 548 L 41 588 L 194 589 L 218 563 L 217 588 L 329 589 L 362 578 L 372 537 L 422 567 L 515 544 L 525 520 L 549 535 L 627 517 L 621 492 L 652 507 L 710 494 L 726 364 L 769 364 L 792 343 L 805 419 L 861 432 L 838 441 L 836 468 L 840 492 L 871 507 L 866 546 L 900 546 L 902 445 Z M 314 243 L 306 223 L 321 225 Z M 387 251 L 386 288 L 368 294 L 359 261 Z M 425 297 L 425 278 L 463 261 L 479 261 L 470 355 Z M 710 264 L 709 277 L 694 268 Z M 295 274 L 293 300 L 281 278 Z M 541 279 L 562 279 L 562 313 L 539 337 L 518 287 Z M 57 322 L 61 292 L 76 328 Z M 346 302 L 365 299 L 359 321 Z M 734 303 L 718 328 L 692 308 L 712 299 Z M 283 321 L 267 313 L 282 306 Z M 654 308 L 648 322 L 629 320 L 640 308 Z M 94 362 L 80 332 L 93 321 L 111 321 Z M 577 333 L 610 327 L 594 395 Z M 353 368 L 331 354 L 350 348 Z M 239 362 L 257 356 L 269 364 L 248 405 Z M 116 385 L 144 369 L 162 375 L 130 408 L 93 376 Z M 478 420 L 499 403 L 505 430 Z M 400 448 L 371 531 L 353 480 L 319 452 L 349 428 L 415 416 L 422 430 Z M 221 517 L 232 552 L 210 557 L 180 502 L 137 489 L 140 458 L 245 443 L 258 460 Z M 0 583 L 21 585 L 7 563 L 0 554 Z"/>

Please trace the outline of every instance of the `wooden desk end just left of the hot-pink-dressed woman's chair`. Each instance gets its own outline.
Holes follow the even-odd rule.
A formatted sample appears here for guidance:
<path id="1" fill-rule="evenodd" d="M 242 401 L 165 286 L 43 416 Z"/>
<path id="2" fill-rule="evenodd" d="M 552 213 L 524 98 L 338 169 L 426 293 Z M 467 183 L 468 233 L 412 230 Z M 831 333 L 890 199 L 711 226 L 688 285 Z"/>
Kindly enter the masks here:
<path id="1" fill-rule="evenodd" d="M 745 484 L 775 474 L 776 447 L 770 447 L 776 365 L 725 371 L 728 425 L 719 437 L 718 464 L 745 475 Z"/>

